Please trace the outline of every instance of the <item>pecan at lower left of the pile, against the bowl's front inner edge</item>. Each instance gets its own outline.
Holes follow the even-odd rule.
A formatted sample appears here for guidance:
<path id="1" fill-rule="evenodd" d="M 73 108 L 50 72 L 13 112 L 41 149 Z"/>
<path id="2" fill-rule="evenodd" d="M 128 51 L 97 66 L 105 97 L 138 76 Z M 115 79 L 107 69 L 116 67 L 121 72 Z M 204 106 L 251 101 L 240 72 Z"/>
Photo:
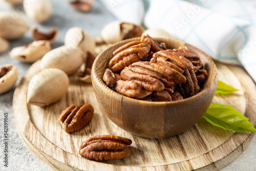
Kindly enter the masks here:
<path id="1" fill-rule="evenodd" d="M 132 80 L 118 80 L 115 84 L 115 90 L 122 95 L 137 99 L 144 98 L 152 93 L 151 91 L 143 90 L 137 82 Z"/>

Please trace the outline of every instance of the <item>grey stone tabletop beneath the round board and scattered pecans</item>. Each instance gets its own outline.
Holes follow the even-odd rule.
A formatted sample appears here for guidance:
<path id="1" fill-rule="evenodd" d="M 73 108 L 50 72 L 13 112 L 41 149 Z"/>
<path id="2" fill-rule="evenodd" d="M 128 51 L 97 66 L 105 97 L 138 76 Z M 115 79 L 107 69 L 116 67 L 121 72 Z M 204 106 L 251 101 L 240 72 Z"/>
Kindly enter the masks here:
<path id="1" fill-rule="evenodd" d="M 63 45 L 65 33 L 71 27 L 81 27 L 92 36 L 99 35 L 101 29 L 116 20 L 116 18 L 108 12 L 98 1 L 95 1 L 93 9 L 89 13 L 81 13 L 75 11 L 68 4 L 68 1 L 63 0 L 52 0 L 53 15 L 44 24 L 37 24 L 28 19 L 23 11 L 22 6 L 12 7 L 0 0 L 0 12 L 2 11 L 13 11 L 19 15 L 27 18 L 31 28 L 38 26 L 42 31 L 48 31 L 51 27 L 56 27 L 59 30 L 57 41 L 52 45 L 52 48 Z M 28 31 L 24 37 L 11 41 L 11 50 L 14 47 L 28 44 L 32 41 L 31 32 Z M 27 69 L 31 66 L 31 63 L 24 63 L 14 59 L 11 59 L 8 53 L 0 54 L 0 66 L 6 63 L 12 63 L 18 69 L 18 80 L 22 78 Z M 15 87 L 16 87 L 15 85 Z M 0 170 L 51 170 L 50 167 L 44 162 L 40 161 L 25 145 L 22 138 L 20 138 L 16 129 L 13 109 L 12 109 L 12 98 L 15 87 L 9 92 L 0 95 Z M 4 113 L 8 113 L 8 124 L 9 124 L 9 160 L 8 167 L 4 166 Z M 256 137 L 252 139 L 247 149 L 232 163 L 221 169 L 222 171 L 227 170 L 256 170 Z"/>

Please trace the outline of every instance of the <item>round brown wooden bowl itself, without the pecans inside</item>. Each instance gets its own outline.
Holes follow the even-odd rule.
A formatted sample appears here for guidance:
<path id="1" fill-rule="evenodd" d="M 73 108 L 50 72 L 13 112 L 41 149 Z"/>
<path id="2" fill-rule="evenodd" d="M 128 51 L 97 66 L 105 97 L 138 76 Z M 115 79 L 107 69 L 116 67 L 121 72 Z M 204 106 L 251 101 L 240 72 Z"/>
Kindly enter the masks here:
<path id="1" fill-rule="evenodd" d="M 127 42 L 139 39 L 137 37 L 117 42 L 95 59 L 92 67 L 92 84 L 100 108 L 112 122 L 134 135 L 165 138 L 180 134 L 203 117 L 214 98 L 218 82 L 215 63 L 204 52 L 185 42 L 155 38 L 158 42 L 165 42 L 168 49 L 186 46 L 199 54 L 209 74 L 204 88 L 195 96 L 171 102 L 151 102 L 126 97 L 108 88 L 102 77 L 113 57 L 112 52 Z"/>

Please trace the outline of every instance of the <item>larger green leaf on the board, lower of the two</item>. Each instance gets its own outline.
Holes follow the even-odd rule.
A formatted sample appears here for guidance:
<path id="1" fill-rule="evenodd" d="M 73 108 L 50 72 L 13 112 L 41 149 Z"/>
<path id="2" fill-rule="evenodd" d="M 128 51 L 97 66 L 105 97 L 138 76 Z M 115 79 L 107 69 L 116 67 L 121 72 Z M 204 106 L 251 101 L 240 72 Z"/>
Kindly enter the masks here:
<path id="1" fill-rule="evenodd" d="M 212 125 L 225 130 L 256 133 L 249 119 L 229 105 L 211 103 L 204 118 Z"/>

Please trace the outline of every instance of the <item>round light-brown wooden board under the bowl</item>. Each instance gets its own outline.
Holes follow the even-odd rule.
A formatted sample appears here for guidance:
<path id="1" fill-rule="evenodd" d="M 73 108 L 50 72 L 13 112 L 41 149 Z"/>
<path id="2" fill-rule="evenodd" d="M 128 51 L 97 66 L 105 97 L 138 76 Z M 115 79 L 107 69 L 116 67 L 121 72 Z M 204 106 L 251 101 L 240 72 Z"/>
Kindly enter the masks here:
<path id="1" fill-rule="evenodd" d="M 35 62 L 18 84 L 13 97 L 13 109 L 20 136 L 30 150 L 53 170 L 219 170 L 236 159 L 254 135 L 223 130 L 201 119 L 189 130 L 174 137 L 138 137 L 112 123 L 100 110 L 92 85 L 79 81 L 74 75 L 69 77 L 67 94 L 59 101 L 44 108 L 29 105 L 26 103 L 28 84 L 39 71 L 39 63 Z M 255 125 L 254 82 L 240 67 L 216 64 L 219 80 L 240 91 L 216 96 L 213 102 L 231 105 Z M 92 121 L 81 131 L 66 133 L 56 122 L 57 117 L 67 106 L 84 103 L 94 107 Z M 78 149 L 83 140 L 104 134 L 132 139 L 130 156 L 104 162 L 79 156 Z"/>

